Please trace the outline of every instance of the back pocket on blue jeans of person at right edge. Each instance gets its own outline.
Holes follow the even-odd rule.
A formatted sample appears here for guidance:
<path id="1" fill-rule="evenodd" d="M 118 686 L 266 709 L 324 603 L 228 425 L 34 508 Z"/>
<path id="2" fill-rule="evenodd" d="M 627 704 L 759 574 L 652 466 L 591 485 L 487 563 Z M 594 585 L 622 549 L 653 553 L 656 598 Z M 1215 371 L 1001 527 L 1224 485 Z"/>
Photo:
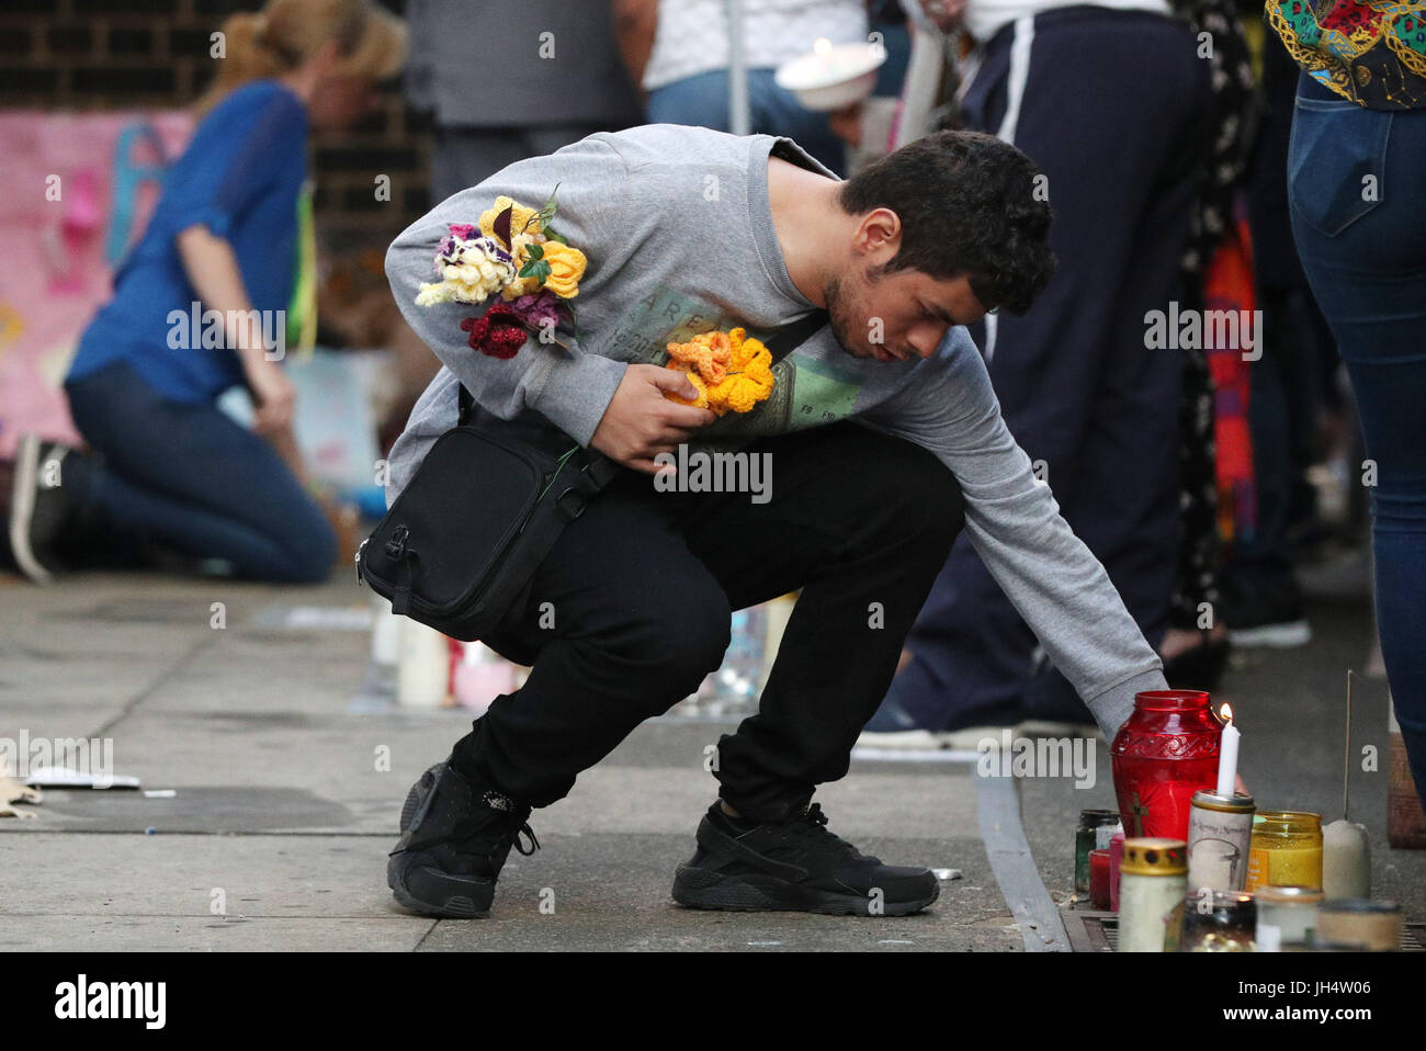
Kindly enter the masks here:
<path id="1" fill-rule="evenodd" d="M 1298 96 L 1288 144 L 1288 202 L 1298 218 L 1336 237 L 1380 204 L 1390 130 L 1389 111 Z"/>

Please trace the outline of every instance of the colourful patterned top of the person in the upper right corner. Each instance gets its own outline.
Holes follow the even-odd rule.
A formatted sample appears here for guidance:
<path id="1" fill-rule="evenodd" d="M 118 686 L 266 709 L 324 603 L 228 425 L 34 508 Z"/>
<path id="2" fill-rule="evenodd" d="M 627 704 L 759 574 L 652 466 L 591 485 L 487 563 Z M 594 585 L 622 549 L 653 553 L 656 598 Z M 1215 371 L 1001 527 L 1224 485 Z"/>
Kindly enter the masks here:
<path id="1" fill-rule="evenodd" d="M 1265 17 L 1298 66 L 1343 98 L 1426 107 L 1426 3 L 1268 0 Z"/>

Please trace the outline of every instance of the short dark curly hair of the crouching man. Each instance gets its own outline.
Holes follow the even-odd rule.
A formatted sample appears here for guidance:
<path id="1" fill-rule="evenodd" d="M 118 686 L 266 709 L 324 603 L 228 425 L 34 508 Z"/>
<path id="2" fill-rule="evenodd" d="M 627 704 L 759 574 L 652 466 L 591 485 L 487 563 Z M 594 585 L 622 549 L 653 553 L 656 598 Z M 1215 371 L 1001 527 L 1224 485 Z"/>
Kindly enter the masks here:
<path id="1" fill-rule="evenodd" d="M 874 277 L 965 274 L 985 309 L 1024 314 L 1055 272 L 1038 174 L 994 135 L 937 131 L 868 164 L 841 184 L 837 202 L 850 215 L 890 208 L 901 218 L 901 248 Z"/>

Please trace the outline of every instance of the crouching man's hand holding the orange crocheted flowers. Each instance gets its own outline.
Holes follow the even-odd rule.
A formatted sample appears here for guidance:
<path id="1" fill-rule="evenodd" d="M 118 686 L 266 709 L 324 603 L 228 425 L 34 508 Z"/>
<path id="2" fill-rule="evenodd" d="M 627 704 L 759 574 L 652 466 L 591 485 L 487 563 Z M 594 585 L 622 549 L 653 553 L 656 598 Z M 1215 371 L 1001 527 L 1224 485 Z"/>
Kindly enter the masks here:
<path id="1" fill-rule="evenodd" d="M 687 375 L 679 369 L 630 365 L 589 444 L 626 468 L 647 475 L 666 469 L 655 463 L 653 458 L 660 452 L 676 452 L 680 442 L 717 419 L 717 414 L 679 405 L 665 398 L 665 394 L 687 401 L 699 395 Z"/>

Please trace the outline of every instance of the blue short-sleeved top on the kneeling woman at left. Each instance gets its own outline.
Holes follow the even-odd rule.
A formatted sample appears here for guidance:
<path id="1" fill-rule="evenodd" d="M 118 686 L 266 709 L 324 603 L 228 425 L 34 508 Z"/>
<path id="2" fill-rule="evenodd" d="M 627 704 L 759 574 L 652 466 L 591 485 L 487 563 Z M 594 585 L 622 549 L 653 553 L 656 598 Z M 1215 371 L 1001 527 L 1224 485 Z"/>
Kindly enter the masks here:
<path id="1" fill-rule="evenodd" d="M 307 108 L 275 80 L 255 80 L 224 98 L 194 130 L 164 180 L 143 240 L 114 274 L 110 299 L 84 335 L 70 379 L 127 361 L 168 398 L 211 402 L 244 382 L 235 349 L 202 347 L 221 329 L 204 324 L 178 257 L 177 235 L 202 224 L 238 258 L 264 331 L 292 298 L 298 197 L 307 178 Z M 183 321 L 178 321 L 178 315 Z M 198 325 L 193 324 L 197 314 Z"/>

